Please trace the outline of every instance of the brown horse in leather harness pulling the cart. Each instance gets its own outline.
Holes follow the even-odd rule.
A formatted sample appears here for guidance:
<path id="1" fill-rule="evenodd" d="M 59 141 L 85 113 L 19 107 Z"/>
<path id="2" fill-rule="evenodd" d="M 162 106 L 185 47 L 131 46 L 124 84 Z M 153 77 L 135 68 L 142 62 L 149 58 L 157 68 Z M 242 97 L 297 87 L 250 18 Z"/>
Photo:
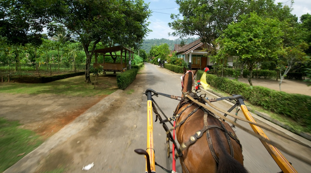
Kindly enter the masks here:
<path id="1" fill-rule="evenodd" d="M 183 71 L 184 96 L 186 92 L 192 93 L 194 75 L 197 71 L 193 73 L 186 71 L 185 68 Z M 193 104 L 191 100 L 181 101 L 175 113 L 176 124 L 179 125 L 176 127 L 176 135 L 181 148 L 184 146 L 183 143 L 194 139 L 191 136 L 199 134 L 196 132 L 202 131 L 203 127 L 208 127 L 205 128 L 208 129 L 205 132 L 203 130 L 202 137 L 193 144 L 188 142 L 190 145 L 183 149 L 180 162 L 184 173 L 247 172 L 243 166 L 242 146 L 228 123 L 216 118 L 213 113 L 200 108 L 197 104 Z"/>

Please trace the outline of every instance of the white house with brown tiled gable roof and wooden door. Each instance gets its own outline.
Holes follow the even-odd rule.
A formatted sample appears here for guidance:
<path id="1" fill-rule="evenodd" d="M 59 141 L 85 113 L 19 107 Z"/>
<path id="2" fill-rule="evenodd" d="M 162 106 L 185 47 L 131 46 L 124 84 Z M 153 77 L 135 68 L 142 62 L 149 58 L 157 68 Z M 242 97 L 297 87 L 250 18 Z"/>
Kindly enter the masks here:
<path id="1" fill-rule="evenodd" d="M 210 44 L 207 45 L 211 46 Z M 177 58 L 183 59 L 188 64 L 189 69 L 203 70 L 205 67 L 212 69 L 214 63 L 211 62 L 211 58 L 208 57 L 210 53 L 203 50 L 204 44 L 201 42 L 201 39 L 197 39 L 183 47 L 181 47 L 180 44 L 174 45 Z M 227 62 L 229 66 L 233 66 L 232 57 L 229 57 Z"/>

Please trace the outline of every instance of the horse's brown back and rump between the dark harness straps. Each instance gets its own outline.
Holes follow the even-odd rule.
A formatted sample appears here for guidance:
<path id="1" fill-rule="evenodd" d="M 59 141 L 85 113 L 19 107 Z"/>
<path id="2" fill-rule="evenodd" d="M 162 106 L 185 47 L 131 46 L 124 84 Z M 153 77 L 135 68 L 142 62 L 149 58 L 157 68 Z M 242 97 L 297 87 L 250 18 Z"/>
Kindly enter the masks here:
<path id="1" fill-rule="evenodd" d="M 185 107 L 185 106 L 184 106 Z M 188 111 L 183 112 L 177 120 L 177 124 L 184 120 L 188 114 L 193 111 L 197 106 L 188 108 Z M 183 107 L 179 110 L 182 110 Z M 208 125 L 221 126 L 220 122 L 216 118 L 212 118 L 211 115 L 207 116 Z M 234 134 L 230 125 L 223 122 L 225 128 Z M 196 113 L 193 113 L 187 118 L 187 120 L 179 127 L 176 128 L 176 136 L 179 144 L 182 144 L 189 140 L 190 136 L 194 135 L 197 131 L 202 130 L 204 127 L 204 112 L 199 109 Z M 227 156 L 230 156 L 230 147 L 226 139 L 225 133 L 219 129 L 210 129 L 209 134 L 211 137 L 211 144 L 207 142 L 207 132 L 203 134 L 193 145 L 189 146 L 183 151 L 184 164 L 187 166 L 189 172 L 217 172 L 218 164 L 215 157 L 220 161 L 230 160 Z M 234 134 L 235 135 L 235 134 Z M 242 164 L 243 167 L 243 155 L 240 145 L 233 139 L 230 139 L 234 149 L 234 159 Z M 215 152 L 211 151 L 211 148 Z M 224 155 L 224 152 L 226 152 Z M 227 170 L 229 171 L 229 170 Z"/>

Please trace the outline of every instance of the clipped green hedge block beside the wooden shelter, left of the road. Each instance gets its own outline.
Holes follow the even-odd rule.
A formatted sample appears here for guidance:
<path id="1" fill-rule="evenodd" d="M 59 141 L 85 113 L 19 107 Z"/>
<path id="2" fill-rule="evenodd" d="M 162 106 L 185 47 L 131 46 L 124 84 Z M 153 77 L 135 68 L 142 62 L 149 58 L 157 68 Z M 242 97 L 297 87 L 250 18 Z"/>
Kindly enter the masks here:
<path id="1" fill-rule="evenodd" d="M 124 90 L 128 87 L 135 79 L 138 69 L 130 69 L 117 75 L 117 85 L 120 89 Z"/>

